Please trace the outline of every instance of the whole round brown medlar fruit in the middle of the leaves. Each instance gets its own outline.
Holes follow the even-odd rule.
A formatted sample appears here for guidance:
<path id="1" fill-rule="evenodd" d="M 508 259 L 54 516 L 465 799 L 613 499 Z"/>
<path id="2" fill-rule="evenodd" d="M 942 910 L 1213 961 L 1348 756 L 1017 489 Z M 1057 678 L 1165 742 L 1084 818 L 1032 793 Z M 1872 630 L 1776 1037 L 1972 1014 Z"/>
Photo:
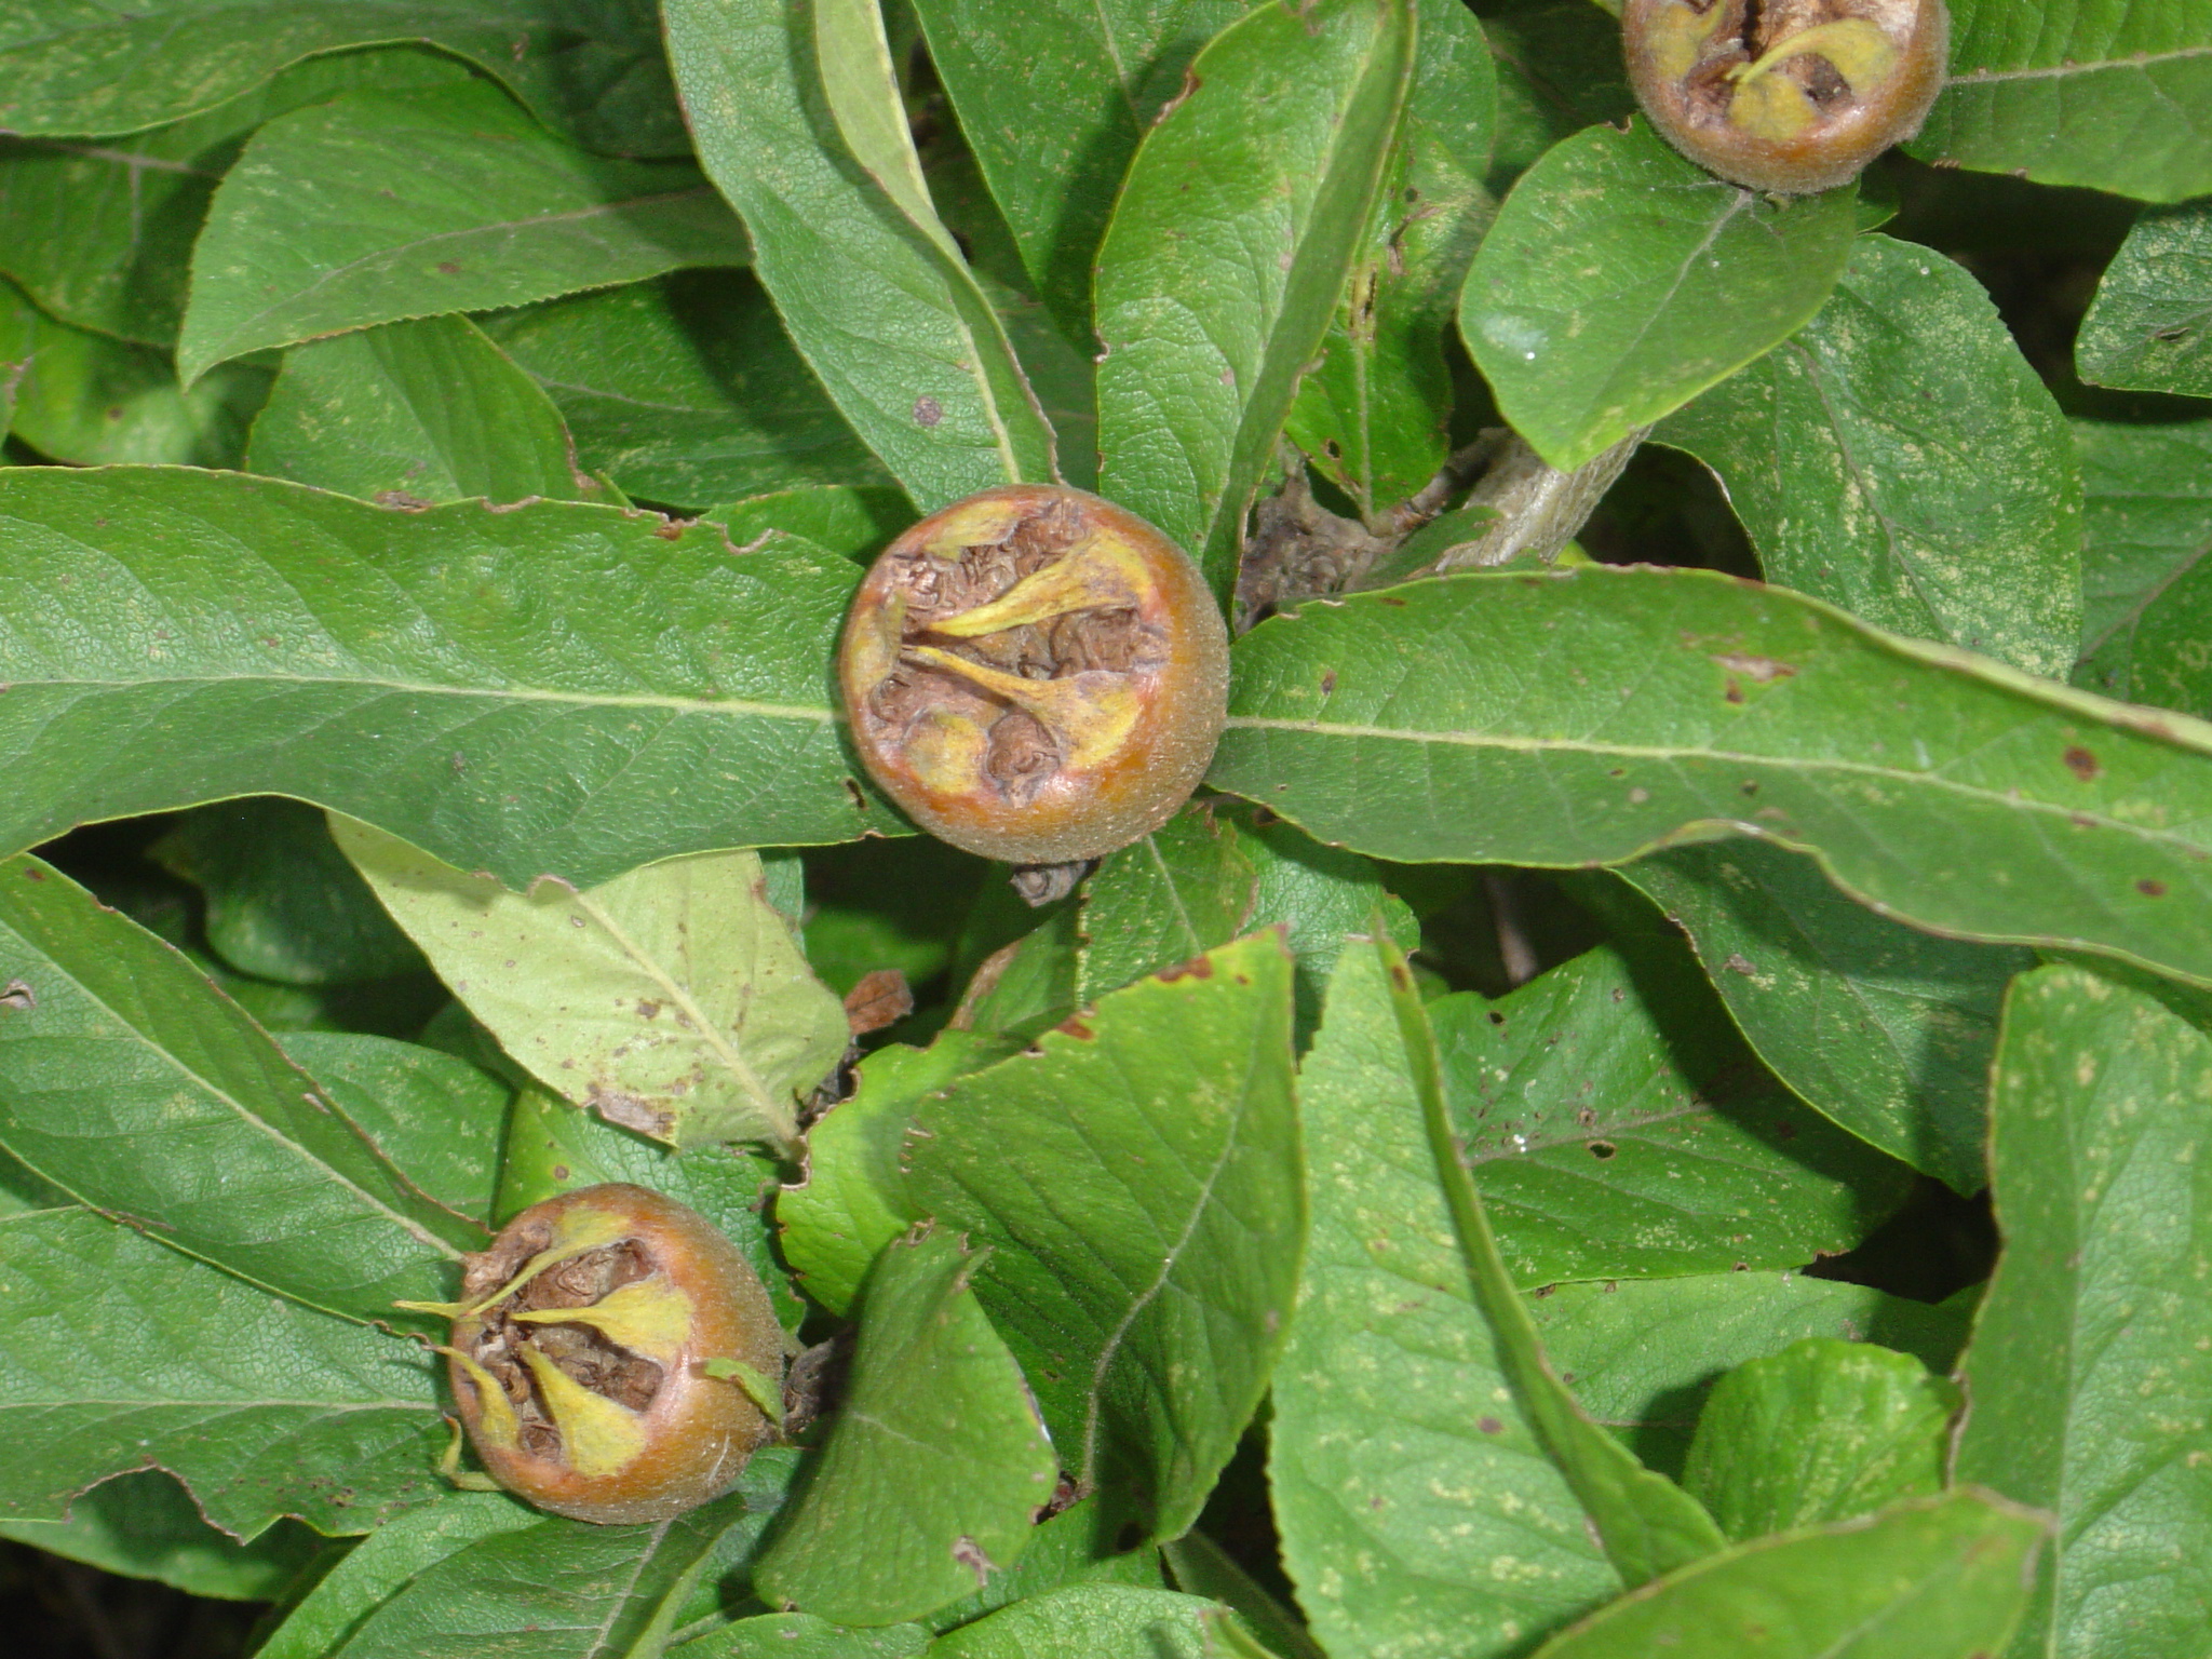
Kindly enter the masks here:
<path id="1" fill-rule="evenodd" d="M 1228 628 L 1197 566 L 1113 502 L 1004 484 L 869 566 L 838 648 L 854 745 L 931 834 L 1018 865 L 1099 858 L 1206 776 Z"/>

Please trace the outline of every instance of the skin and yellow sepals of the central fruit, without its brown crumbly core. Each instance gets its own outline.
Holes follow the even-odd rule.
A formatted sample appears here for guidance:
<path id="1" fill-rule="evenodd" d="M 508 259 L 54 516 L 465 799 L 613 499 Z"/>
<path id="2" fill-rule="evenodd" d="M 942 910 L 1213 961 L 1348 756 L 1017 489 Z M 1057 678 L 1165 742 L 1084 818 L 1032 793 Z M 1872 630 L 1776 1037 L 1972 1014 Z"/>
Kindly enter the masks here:
<path id="1" fill-rule="evenodd" d="M 1110 564 L 1121 586 L 1099 597 L 1128 604 L 1075 606 L 978 639 L 931 633 L 927 604 L 909 611 L 931 557 L 951 571 L 962 557 L 993 551 L 982 544 L 962 551 L 962 535 L 984 542 L 1002 535 L 1013 538 L 1006 546 L 1020 546 L 1040 524 L 1075 538 L 1084 557 Z M 1064 557 L 1073 568 L 1075 553 Z M 980 597 L 995 595 L 984 588 Z M 942 619 L 958 624 L 960 615 L 982 611 L 984 604 L 964 604 Z M 993 710 L 1013 706 L 987 708 L 989 688 L 964 686 L 958 672 L 929 679 L 916 666 L 922 657 L 953 668 L 969 657 L 993 657 L 1006 686 L 1029 675 L 1026 690 L 1044 695 L 1055 690 L 1053 681 L 1066 690 L 1079 679 L 1071 664 L 1040 661 L 1055 648 L 1029 650 L 1020 641 L 1060 639 L 1055 630 L 1086 613 L 1141 639 L 1128 672 L 1095 670 L 1126 726 L 1097 714 L 1110 741 L 1102 737 L 1097 752 L 1088 752 L 1082 732 L 1044 721 L 1040 730 L 1057 739 L 1060 765 L 1004 785 L 991 772 L 998 761 L 991 721 L 1000 717 Z M 1190 557 L 1135 513 L 1062 484 L 1002 484 L 920 520 L 869 566 L 847 613 L 838 684 L 860 763 L 909 818 L 984 858 L 1057 865 L 1099 858 L 1150 834 L 1206 776 L 1228 712 L 1228 628 Z M 918 701 L 931 686 L 958 708 Z"/>

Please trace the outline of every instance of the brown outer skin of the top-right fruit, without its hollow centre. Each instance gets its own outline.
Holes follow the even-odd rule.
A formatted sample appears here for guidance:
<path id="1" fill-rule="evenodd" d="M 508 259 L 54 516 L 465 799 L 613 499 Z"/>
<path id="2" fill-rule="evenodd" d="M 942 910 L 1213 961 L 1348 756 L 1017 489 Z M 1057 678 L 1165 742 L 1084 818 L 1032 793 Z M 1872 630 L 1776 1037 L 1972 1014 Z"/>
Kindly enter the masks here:
<path id="1" fill-rule="evenodd" d="M 1944 84 L 1951 18 L 1942 0 L 1798 0 L 1798 11 L 1865 20 L 1882 31 L 1891 58 L 1847 97 L 1820 108 L 1803 131 L 1752 131 L 1759 100 L 1728 82 L 1736 66 L 1717 44 L 1739 27 L 1745 0 L 1628 0 L 1621 40 L 1628 84 L 1659 135 L 1730 184 L 1770 195 L 1812 195 L 1856 179 L 1874 157 L 1920 131 Z M 1787 15 L 1787 0 L 1765 11 Z M 1719 15 L 1717 15 L 1719 13 Z M 1809 33 L 1809 31 L 1807 31 Z M 1686 42 L 1697 64 L 1686 66 Z M 1747 55 L 1745 62 L 1747 64 Z M 1772 71 L 1770 71 L 1772 73 Z"/>

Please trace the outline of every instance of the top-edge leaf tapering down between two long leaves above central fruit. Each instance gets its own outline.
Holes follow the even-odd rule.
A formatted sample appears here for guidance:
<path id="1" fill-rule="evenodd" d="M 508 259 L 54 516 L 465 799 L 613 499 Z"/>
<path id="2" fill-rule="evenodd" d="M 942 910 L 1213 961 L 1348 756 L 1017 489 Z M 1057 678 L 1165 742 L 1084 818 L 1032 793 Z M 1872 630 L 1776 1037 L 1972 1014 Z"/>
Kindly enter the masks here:
<path id="1" fill-rule="evenodd" d="M 1035 292 L 1091 336 L 1091 263 L 1121 175 L 1245 0 L 922 0 L 929 60 Z"/>

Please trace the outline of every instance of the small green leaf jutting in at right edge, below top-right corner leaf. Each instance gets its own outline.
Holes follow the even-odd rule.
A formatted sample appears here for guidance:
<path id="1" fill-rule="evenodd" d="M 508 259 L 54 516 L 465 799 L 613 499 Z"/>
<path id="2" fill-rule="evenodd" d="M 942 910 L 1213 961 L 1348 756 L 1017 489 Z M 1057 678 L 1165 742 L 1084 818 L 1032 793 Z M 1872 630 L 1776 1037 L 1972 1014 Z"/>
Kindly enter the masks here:
<path id="1" fill-rule="evenodd" d="M 2097 279 L 2075 363 L 2095 385 L 2212 396 L 2212 206 L 2135 221 Z"/>

